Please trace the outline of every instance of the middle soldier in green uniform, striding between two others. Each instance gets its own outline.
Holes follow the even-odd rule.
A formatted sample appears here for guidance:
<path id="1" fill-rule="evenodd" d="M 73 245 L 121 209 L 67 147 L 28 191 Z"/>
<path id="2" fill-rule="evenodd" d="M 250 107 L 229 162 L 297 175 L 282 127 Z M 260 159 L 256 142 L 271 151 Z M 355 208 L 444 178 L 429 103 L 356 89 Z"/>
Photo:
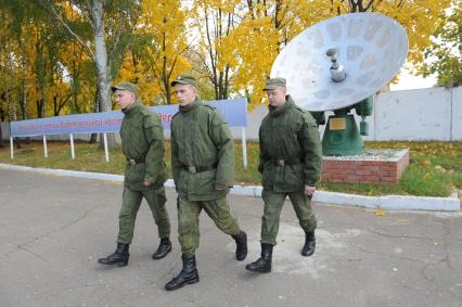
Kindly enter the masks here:
<path id="1" fill-rule="evenodd" d="M 228 124 L 215 107 L 200 101 L 195 78 L 180 76 L 171 86 L 180 104 L 171 121 L 171 166 L 178 192 L 178 240 L 183 268 L 165 285 L 167 291 L 198 282 L 195 250 L 202 209 L 235 240 L 236 259 L 243 260 L 247 255 L 247 235 L 227 203 L 234 176 L 234 142 Z"/>

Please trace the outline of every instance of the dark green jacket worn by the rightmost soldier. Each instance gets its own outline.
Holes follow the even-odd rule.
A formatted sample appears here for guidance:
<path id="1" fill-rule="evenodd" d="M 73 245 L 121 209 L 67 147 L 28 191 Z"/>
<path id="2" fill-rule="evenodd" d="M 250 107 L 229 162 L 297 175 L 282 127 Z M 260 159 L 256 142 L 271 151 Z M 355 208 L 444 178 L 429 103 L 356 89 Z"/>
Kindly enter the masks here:
<path id="1" fill-rule="evenodd" d="M 269 108 L 258 132 L 258 170 L 264 189 L 295 192 L 303 191 L 304 186 L 315 187 L 320 178 L 322 148 L 313 117 L 296 106 L 290 95 L 285 104 Z"/>

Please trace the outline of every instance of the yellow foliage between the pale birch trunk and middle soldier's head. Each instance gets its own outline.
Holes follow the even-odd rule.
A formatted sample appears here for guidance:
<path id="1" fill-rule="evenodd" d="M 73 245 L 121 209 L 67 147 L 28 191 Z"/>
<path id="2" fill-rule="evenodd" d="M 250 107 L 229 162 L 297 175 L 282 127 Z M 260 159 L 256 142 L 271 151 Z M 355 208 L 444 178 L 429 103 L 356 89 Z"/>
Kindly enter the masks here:
<path id="1" fill-rule="evenodd" d="M 137 65 L 131 59 L 133 54 L 124 61 L 119 79 L 134 80 L 141 89 L 141 99 L 149 104 L 170 102 L 170 81 L 190 68 L 184 57 L 188 12 L 181 8 L 180 0 L 142 1 L 137 33 L 152 36 L 153 43 L 138 55 Z"/>

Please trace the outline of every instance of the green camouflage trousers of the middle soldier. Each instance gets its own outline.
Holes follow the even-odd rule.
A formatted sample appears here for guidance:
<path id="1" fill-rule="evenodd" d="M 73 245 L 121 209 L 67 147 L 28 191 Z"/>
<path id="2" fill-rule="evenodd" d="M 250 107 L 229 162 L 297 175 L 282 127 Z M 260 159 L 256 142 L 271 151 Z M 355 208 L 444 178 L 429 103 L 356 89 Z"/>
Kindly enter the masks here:
<path id="1" fill-rule="evenodd" d="M 198 248 L 198 216 L 202 209 L 222 232 L 230 235 L 240 233 L 238 220 L 230 213 L 226 195 L 218 200 L 197 202 L 178 197 L 177 207 L 178 241 L 181 245 L 181 252 L 187 256 L 193 256 L 195 250 Z"/>

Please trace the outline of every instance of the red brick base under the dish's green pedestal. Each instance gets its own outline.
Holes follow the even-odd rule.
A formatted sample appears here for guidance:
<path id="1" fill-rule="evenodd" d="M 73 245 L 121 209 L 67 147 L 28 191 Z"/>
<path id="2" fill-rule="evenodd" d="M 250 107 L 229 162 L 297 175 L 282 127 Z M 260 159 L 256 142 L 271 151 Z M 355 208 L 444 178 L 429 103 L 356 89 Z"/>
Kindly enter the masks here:
<path id="1" fill-rule="evenodd" d="M 409 165 L 409 150 L 390 158 L 343 159 L 323 157 L 321 181 L 348 183 L 396 183 Z"/>

